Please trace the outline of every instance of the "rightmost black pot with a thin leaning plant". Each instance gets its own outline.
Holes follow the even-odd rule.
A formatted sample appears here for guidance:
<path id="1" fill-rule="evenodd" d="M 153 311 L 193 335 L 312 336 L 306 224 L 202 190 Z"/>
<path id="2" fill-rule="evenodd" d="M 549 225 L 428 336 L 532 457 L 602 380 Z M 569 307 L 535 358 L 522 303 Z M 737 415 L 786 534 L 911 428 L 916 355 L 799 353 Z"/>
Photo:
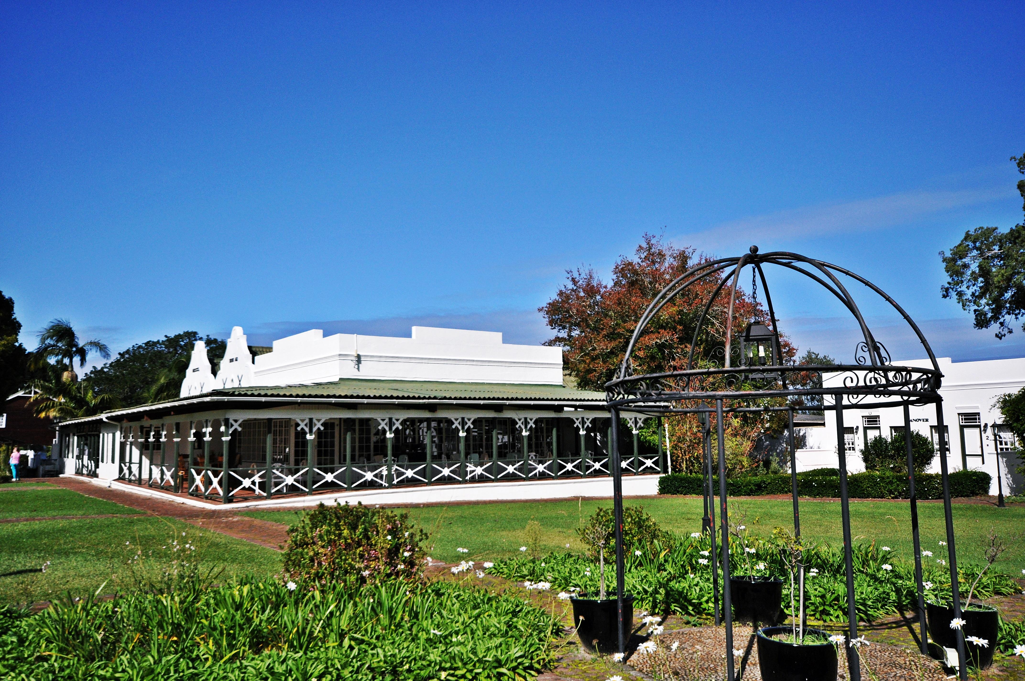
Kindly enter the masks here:
<path id="1" fill-rule="evenodd" d="M 983 554 L 986 565 L 972 583 L 968 591 L 968 599 L 961 603 L 961 618 L 954 618 L 953 604 L 949 599 L 940 600 L 931 597 L 926 603 L 926 614 L 929 618 L 929 635 L 933 642 L 950 651 L 957 649 L 957 630 L 965 635 L 965 653 L 969 665 L 976 669 L 987 669 L 993 664 L 993 650 L 996 647 L 996 635 L 1000 626 L 1000 615 L 996 608 L 982 603 L 972 603 L 975 588 L 982 575 L 996 562 L 1008 548 L 993 530 L 989 530 L 989 546 Z M 932 586 L 932 585 L 930 585 Z M 951 657 L 948 652 L 948 657 Z"/>

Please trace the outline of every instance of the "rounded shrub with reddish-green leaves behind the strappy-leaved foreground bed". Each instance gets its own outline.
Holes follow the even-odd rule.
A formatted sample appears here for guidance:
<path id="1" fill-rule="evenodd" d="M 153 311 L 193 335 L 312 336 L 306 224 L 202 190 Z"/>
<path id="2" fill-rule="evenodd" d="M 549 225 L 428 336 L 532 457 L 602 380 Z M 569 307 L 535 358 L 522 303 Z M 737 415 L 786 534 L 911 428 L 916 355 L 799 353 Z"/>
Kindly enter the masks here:
<path id="1" fill-rule="evenodd" d="M 426 534 L 408 514 L 362 504 L 324 506 L 288 530 L 284 578 L 305 584 L 374 584 L 422 576 Z"/>

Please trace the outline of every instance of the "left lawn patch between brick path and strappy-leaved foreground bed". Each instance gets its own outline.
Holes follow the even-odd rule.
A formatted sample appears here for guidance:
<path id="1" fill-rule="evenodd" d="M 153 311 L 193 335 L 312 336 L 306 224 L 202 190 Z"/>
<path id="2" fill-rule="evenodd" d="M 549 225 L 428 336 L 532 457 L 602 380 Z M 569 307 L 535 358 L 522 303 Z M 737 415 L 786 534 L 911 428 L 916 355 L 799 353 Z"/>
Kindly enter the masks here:
<path id="1" fill-rule="evenodd" d="M 49 600 L 68 590 L 91 593 L 104 583 L 104 593 L 128 588 L 127 562 L 136 547 L 160 555 L 175 536 L 196 543 L 204 560 L 222 565 L 227 575 L 263 577 L 281 569 L 276 551 L 153 516 L 4 523 L 0 532 L 0 603 L 6 604 Z"/>

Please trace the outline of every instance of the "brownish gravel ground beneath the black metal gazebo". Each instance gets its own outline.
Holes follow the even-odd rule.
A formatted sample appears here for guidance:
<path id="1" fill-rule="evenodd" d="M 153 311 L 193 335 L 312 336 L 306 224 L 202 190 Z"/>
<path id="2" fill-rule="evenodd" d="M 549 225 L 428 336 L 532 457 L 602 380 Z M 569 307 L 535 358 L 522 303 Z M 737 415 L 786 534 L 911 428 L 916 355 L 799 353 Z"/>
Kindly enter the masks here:
<path id="1" fill-rule="evenodd" d="M 721 681 L 726 676 L 726 629 L 699 627 L 683 629 L 656 637 L 658 650 L 651 653 L 637 652 L 629 665 L 655 678 L 686 681 Z M 757 645 L 751 639 L 750 627 L 734 627 L 735 649 L 743 649 L 744 681 L 761 681 Z M 680 643 L 675 652 L 673 643 Z M 863 679 L 877 681 L 945 681 L 947 676 L 932 658 L 916 651 L 906 650 L 885 643 L 862 646 L 861 674 Z M 838 678 L 847 679 L 847 655 L 839 652 Z M 866 669 L 867 667 L 867 669 Z M 871 672 L 871 675 L 869 674 Z"/>

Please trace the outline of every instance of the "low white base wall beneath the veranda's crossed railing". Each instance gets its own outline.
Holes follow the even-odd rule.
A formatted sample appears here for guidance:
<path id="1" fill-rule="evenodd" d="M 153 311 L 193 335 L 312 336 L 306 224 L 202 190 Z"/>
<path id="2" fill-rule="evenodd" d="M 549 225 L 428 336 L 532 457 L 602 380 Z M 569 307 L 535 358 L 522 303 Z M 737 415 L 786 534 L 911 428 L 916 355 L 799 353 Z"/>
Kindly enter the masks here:
<path id="1" fill-rule="evenodd" d="M 72 477 L 72 476 L 68 476 Z M 221 505 L 201 498 L 168 494 L 148 487 L 129 485 L 117 480 L 81 478 L 122 491 L 184 504 L 207 511 L 240 509 L 304 509 L 318 504 L 356 504 L 379 506 L 419 506 L 421 504 L 465 504 L 474 502 L 531 502 L 586 497 L 611 497 L 612 478 L 572 478 L 568 480 L 531 480 L 516 482 L 484 482 L 459 485 L 424 485 L 418 487 L 393 487 L 391 489 L 356 489 L 334 494 L 288 496 L 263 500 L 239 502 Z M 652 496 L 658 493 L 658 475 L 623 476 L 623 496 Z"/>

